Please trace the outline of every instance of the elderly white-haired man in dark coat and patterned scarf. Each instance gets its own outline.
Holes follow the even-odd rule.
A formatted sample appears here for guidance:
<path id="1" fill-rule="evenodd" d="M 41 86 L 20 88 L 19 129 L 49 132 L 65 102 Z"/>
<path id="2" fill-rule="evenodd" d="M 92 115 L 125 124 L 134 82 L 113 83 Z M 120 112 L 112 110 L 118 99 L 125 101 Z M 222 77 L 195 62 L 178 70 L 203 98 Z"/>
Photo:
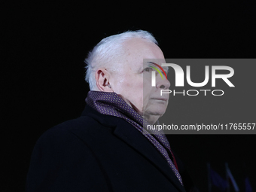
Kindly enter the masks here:
<path id="1" fill-rule="evenodd" d="M 86 59 L 84 112 L 38 139 L 28 192 L 190 191 L 193 184 L 166 137 L 143 130 L 166 111 L 168 94 L 160 96 L 160 90 L 170 86 L 156 75 L 152 87 L 154 68 L 143 59 L 164 56 L 141 30 L 112 35 L 93 48 Z"/>

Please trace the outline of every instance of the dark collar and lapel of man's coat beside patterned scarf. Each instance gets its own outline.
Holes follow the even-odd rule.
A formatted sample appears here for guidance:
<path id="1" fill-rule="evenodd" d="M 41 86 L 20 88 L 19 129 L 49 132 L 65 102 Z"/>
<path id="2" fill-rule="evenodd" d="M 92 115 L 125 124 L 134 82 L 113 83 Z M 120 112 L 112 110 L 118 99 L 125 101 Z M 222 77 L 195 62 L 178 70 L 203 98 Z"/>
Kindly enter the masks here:
<path id="1" fill-rule="evenodd" d="M 142 156 L 154 164 L 178 190 L 185 192 L 184 187 L 178 181 L 178 178 L 175 176 L 174 172 L 172 172 L 172 169 L 169 167 L 169 164 L 162 154 L 154 148 L 154 145 L 152 145 L 142 133 L 139 133 L 139 130 L 136 130 L 136 128 L 126 122 L 126 120 L 111 115 L 99 114 L 88 105 L 84 109 L 82 116 L 90 116 L 99 121 L 99 123 L 102 123 L 102 125 L 115 127 L 114 136 L 122 139 L 127 145 L 130 145 L 142 154 Z"/>

